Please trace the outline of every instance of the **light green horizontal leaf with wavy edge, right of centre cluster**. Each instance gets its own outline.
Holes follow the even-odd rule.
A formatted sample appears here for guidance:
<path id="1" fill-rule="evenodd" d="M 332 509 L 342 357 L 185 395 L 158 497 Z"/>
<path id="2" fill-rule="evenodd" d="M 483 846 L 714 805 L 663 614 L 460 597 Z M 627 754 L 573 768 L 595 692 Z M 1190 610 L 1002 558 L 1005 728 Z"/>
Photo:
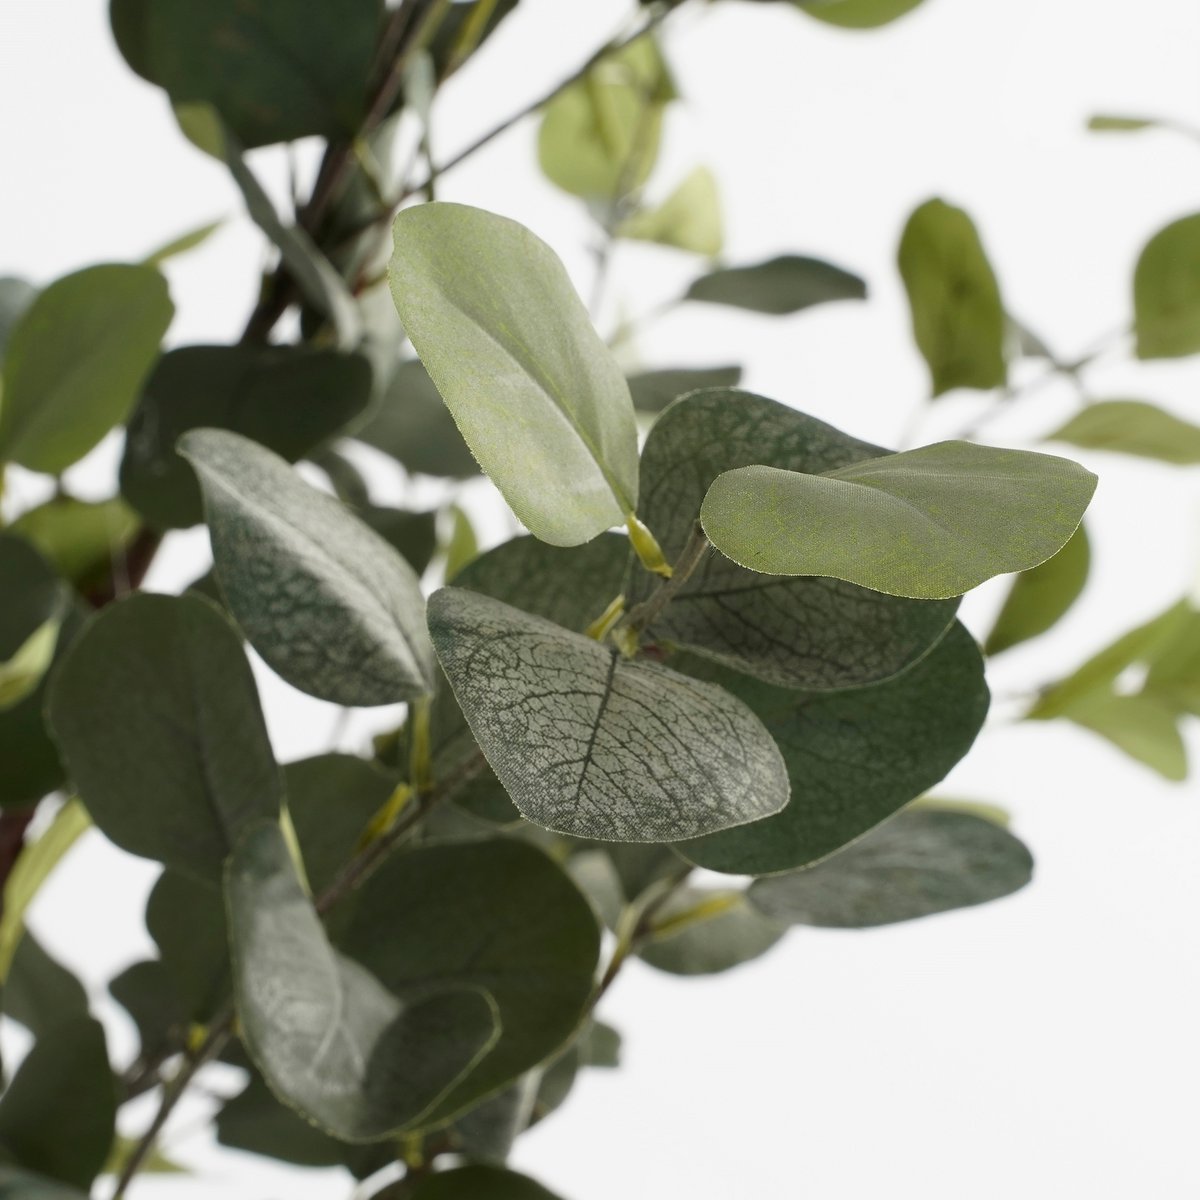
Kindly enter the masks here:
<path id="1" fill-rule="evenodd" d="M 708 490 L 701 521 L 750 570 L 932 600 L 1044 563 L 1094 490 L 1096 476 L 1067 458 L 940 442 L 822 475 L 730 470 Z"/>

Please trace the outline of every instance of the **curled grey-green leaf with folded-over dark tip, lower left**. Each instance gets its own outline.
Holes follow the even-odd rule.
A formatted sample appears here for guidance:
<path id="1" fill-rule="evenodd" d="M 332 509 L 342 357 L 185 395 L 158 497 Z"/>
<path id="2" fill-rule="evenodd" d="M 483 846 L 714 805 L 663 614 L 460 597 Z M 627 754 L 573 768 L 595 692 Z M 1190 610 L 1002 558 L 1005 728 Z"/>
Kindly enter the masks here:
<path id="1" fill-rule="evenodd" d="M 401 1000 L 325 938 L 277 824 L 251 829 L 226 875 L 242 1039 L 281 1099 L 344 1141 L 418 1124 L 496 1042 L 473 985 Z"/>

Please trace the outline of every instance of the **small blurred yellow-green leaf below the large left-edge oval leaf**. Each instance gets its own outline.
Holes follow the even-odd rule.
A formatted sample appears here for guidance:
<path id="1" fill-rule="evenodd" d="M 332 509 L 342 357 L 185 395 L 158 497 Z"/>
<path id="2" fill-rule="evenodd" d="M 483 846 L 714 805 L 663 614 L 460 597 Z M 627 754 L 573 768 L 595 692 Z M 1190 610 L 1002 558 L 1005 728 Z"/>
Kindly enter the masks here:
<path id="1" fill-rule="evenodd" d="M 55 496 L 12 523 L 13 533 L 28 538 L 82 592 L 108 577 L 138 527 L 137 514 L 115 497 L 89 503 Z"/>

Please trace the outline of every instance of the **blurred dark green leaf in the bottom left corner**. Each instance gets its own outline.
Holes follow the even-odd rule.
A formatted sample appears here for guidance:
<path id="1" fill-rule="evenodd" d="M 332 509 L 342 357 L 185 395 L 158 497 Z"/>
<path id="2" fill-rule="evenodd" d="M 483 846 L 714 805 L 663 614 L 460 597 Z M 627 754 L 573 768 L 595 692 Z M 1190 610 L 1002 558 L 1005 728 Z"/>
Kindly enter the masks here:
<path id="1" fill-rule="evenodd" d="M 104 1031 L 89 1016 L 77 1018 L 36 1042 L 8 1085 L 0 1100 L 0 1152 L 86 1190 L 108 1158 L 115 1118 Z"/>

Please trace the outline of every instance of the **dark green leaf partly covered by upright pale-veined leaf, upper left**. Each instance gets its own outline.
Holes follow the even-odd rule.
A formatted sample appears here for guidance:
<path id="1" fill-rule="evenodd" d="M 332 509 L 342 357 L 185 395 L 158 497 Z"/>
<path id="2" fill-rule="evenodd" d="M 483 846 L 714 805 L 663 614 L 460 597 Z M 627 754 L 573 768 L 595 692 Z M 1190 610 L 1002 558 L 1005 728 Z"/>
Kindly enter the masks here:
<path id="1" fill-rule="evenodd" d="M 301 346 L 187 346 L 142 391 L 121 460 L 121 491 L 156 528 L 204 520 L 196 475 L 175 452 L 188 430 L 233 430 L 295 462 L 358 416 L 371 391 L 360 354 Z"/>

